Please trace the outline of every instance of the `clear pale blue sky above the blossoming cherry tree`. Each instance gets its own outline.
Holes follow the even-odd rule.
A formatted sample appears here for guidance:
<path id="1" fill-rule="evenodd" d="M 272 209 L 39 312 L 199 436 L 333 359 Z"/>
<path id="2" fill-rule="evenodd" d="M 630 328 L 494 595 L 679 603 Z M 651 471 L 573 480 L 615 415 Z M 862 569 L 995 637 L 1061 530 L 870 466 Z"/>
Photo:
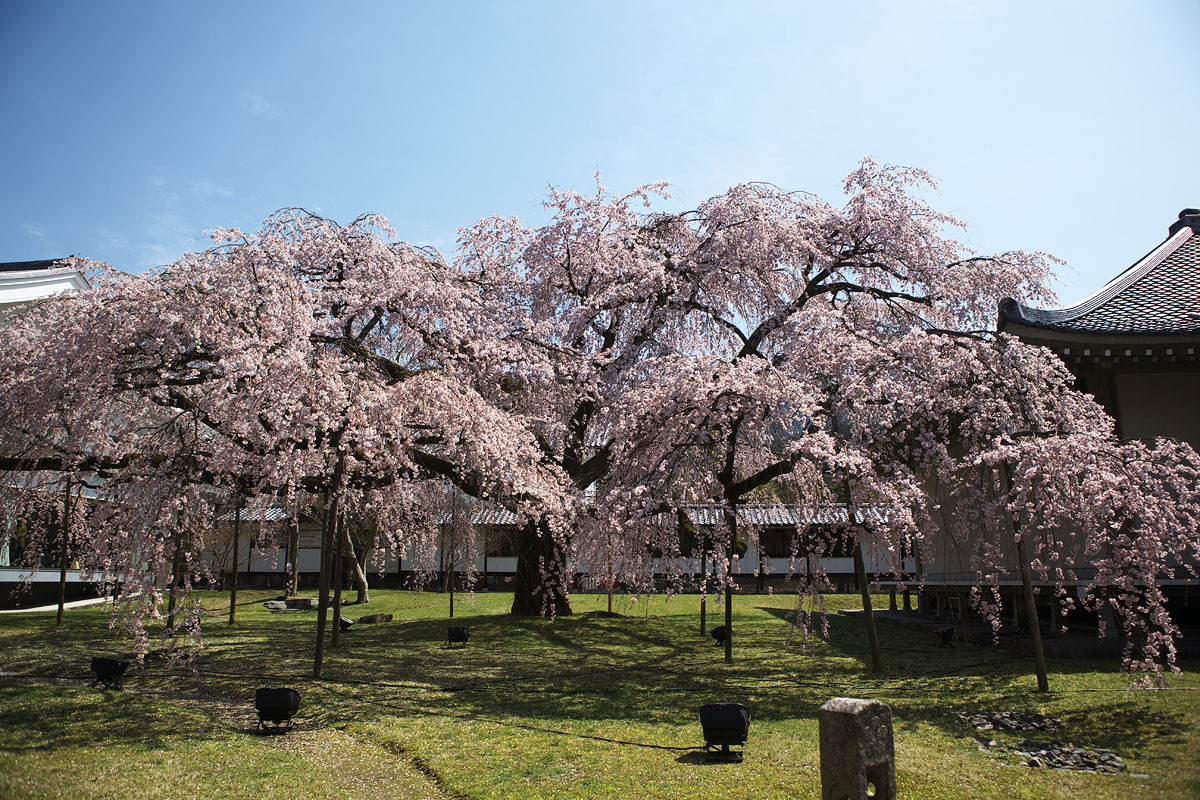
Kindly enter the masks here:
<path id="1" fill-rule="evenodd" d="M 941 181 L 1099 288 L 1200 205 L 1200 2 L 0 2 L 0 260 L 138 271 L 283 206 L 449 252 L 547 186 Z"/>

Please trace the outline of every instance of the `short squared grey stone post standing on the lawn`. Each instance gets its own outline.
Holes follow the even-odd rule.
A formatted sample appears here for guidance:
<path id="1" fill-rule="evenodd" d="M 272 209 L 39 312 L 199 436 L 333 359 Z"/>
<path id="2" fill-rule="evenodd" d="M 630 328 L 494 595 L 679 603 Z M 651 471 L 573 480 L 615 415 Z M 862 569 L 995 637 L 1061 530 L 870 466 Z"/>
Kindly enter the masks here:
<path id="1" fill-rule="evenodd" d="M 821 800 L 895 800 L 892 709 L 878 700 L 835 697 L 820 708 L 817 718 Z"/>

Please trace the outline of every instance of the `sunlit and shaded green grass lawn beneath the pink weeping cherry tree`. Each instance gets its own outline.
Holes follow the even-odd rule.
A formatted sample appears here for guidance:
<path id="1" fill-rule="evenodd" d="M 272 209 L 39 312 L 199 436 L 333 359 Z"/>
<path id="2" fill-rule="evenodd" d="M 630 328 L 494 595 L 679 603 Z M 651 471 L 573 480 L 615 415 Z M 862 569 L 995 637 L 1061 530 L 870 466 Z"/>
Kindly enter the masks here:
<path id="1" fill-rule="evenodd" d="M 698 633 L 698 597 L 620 599 L 623 616 L 578 595 L 554 621 L 505 614 L 511 595 L 456 604 L 470 627 L 445 646 L 448 596 L 372 591 L 347 615 L 390 612 L 326 650 L 312 670 L 316 614 L 272 613 L 275 593 L 206 595 L 204 646 L 188 666 L 148 662 L 122 692 L 88 688 L 92 655 L 127 644 L 101 610 L 0 616 L 2 798 L 820 798 L 817 708 L 832 697 L 892 705 L 904 798 L 1200 796 L 1200 663 L 1160 692 L 1128 691 L 1116 664 L 1032 664 L 1002 650 L 940 648 L 928 632 L 880 625 L 884 673 L 864 668 L 863 624 L 832 616 L 829 639 L 788 644 L 793 597 L 734 599 L 734 662 Z M 857 596 L 829 604 L 857 607 Z M 709 604 L 710 625 L 720 607 Z M 16 678 L 11 675 L 24 675 Z M 37 678 L 32 678 L 36 675 Z M 253 728 L 258 686 L 301 693 L 300 726 Z M 751 711 L 740 764 L 704 763 L 696 710 Z M 1058 739 L 1106 747 L 1127 774 L 1031 769 L 978 747 L 959 715 L 1040 711 Z M 1145 775 L 1145 777 L 1135 777 Z"/>

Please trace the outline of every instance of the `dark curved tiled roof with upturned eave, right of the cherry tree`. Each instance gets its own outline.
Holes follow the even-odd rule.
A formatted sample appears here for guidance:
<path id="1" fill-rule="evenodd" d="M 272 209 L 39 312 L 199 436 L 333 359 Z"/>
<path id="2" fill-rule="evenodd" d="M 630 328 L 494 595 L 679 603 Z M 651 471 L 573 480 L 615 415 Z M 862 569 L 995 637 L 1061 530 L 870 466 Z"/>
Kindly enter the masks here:
<path id="1" fill-rule="evenodd" d="M 1102 335 L 1200 333 L 1200 216 L 1181 216 L 1181 222 L 1166 241 L 1079 305 L 1040 309 L 1006 297 L 1000 330 L 1014 323 Z"/>

